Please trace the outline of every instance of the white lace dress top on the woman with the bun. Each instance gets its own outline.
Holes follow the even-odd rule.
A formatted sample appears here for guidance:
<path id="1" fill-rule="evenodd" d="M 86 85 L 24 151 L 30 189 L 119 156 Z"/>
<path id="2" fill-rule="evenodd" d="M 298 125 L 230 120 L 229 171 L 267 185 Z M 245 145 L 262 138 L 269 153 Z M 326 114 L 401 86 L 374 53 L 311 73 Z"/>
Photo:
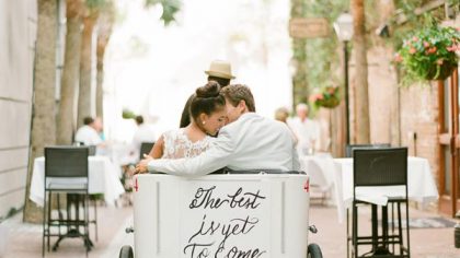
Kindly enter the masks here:
<path id="1" fill-rule="evenodd" d="M 215 140 L 212 137 L 205 137 L 203 140 L 192 142 L 184 129 L 171 130 L 163 133 L 163 156 L 162 159 L 194 157 L 209 149 Z"/>

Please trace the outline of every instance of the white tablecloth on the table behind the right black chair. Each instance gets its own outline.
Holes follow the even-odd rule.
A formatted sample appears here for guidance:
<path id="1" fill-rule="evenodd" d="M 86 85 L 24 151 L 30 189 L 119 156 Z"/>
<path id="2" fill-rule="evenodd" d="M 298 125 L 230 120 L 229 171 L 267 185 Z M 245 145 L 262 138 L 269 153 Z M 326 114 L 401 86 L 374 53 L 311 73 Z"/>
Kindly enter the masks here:
<path id="1" fill-rule="evenodd" d="M 335 191 L 337 192 L 338 221 L 342 222 L 347 208 L 353 202 L 353 159 L 334 159 Z M 359 187 L 357 199 L 386 206 L 389 197 L 401 197 L 404 187 Z M 438 189 L 426 159 L 410 156 L 407 159 L 407 197 L 422 206 L 437 200 Z"/>

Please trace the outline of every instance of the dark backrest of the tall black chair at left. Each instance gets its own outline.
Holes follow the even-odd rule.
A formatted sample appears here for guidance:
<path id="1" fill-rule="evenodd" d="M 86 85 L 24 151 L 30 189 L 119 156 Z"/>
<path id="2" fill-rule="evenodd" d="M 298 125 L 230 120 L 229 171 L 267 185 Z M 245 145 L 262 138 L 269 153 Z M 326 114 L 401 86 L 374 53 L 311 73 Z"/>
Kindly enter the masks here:
<path id="1" fill-rule="evenodd" d="M 45 148 L 45 177 L 88 177 L 88 146 Z"/>

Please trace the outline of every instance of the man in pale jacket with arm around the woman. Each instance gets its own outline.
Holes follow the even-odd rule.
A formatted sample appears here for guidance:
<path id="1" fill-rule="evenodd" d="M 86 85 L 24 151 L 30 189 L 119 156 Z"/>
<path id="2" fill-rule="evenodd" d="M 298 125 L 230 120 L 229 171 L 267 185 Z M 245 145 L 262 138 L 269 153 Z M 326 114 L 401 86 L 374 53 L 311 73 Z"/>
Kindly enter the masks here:
<path id="1" fill-rule="evenodd" d="M 255 114 L 254 98 L 245 85 L 223 87 L 229 125 L 212 145 L 192 159 L 153 160 L 146 157 L 137 173 L 164 172 L 181 176 L 202 176 L 225 166 L 234 171 L 299 169 L 295 142 L 286 124 Z"/>

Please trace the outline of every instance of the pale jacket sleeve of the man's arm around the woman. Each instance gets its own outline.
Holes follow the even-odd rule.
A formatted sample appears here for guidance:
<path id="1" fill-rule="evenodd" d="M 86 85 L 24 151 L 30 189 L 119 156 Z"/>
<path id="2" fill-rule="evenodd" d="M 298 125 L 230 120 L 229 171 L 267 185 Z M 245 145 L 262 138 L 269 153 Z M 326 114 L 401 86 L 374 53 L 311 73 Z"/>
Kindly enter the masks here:
<path id="1" fill-rule="evenodd" d="M 222 129 L 219 137 L 206 152 L 192 159 L 153 160 L 148 163 L 150 172 L 164 172 L 180 176 L 203 176 L 229 164 L 234 151 L 228 131 Z"/>

